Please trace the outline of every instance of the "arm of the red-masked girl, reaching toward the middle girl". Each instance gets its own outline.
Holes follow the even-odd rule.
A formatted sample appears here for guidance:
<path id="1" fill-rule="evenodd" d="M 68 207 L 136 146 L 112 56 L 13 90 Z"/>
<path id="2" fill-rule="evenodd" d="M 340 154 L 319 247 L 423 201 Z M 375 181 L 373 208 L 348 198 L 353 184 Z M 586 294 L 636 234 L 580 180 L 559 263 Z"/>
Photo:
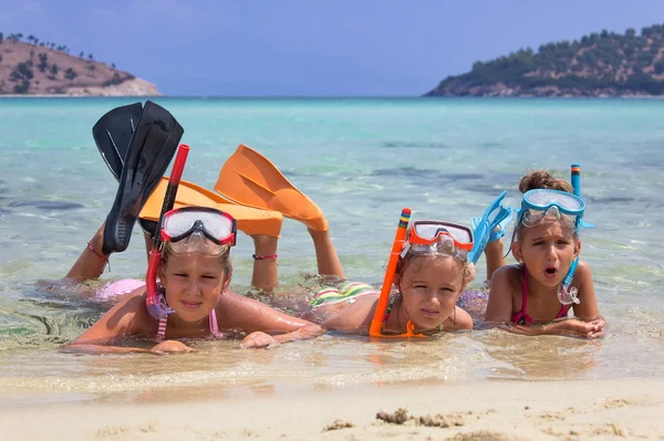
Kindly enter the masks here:
<path id="1" fill-rule="evenodd" d="M 249 334 L 242 340 L 246 347 L 302 340 L 322 334 L 321 327 L 311 322 L 280 313 L 232 291 L 221 295 L 216 314 L 220 327 L 240 328 Z"/>

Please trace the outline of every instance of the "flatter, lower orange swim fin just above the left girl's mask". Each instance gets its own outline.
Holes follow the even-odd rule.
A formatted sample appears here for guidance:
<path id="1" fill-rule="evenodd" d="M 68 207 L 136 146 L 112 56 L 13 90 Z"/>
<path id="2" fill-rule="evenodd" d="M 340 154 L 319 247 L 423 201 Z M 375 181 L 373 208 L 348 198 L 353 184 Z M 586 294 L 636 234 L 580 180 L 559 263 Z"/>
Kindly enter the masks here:
<path id="1" fill-rule="evenodd" d="M 143 210 L 141 210 L 141 219 L 149 221 L 159 220 L 167 185 L 168 177 L 162 178 L 162 181 L 148 198 Z M 211 207 L 226 211 L 238 221 L 238 230 L 249 235 L 267 234 L 279 238 L 281 232 L 283 216 L 280 212 L 238 206 L 196 183 L 180 180 L 177 195 L 175 196 L 174 208 L 191 206 Z"/>

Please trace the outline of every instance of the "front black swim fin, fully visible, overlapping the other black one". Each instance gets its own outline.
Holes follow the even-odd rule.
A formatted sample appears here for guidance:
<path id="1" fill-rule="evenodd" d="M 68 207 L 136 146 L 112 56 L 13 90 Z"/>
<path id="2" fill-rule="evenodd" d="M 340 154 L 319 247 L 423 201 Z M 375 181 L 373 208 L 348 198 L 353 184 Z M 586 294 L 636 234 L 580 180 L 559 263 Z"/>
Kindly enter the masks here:
<path id="1" fill-rule="evenodd" d="M 138 213 L 166 172 L 184 132 L 164 107 L 151 101 L 145 103 L 128 143 L 113 208 L 106 217 L 102 249 L 105 254 L 127 249 Z M 126 134 L 113 137 L 118 154 L 123 136 Z M 108 168 L 112 164 L 117 166 L 117 161 L 106 164 Z"/>

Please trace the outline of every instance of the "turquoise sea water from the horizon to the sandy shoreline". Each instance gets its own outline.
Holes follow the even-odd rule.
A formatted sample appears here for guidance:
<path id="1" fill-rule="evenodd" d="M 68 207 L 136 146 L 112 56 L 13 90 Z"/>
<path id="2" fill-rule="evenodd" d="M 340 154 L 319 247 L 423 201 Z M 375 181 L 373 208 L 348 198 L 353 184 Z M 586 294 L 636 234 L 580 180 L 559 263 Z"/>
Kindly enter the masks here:
<path id="1" fill-rule="evenodd" d="M 370 343 L 325 335 L 271 350 L 239 342 L 194 345 L 186 356 L 92 356 L 59 350 L 107 305 L 52 288 L 105 219 L 116 189 L 91 129 L 133 98 L 0 99 L 0 408 L 52 400 L 149 400 L 196 386 L 208 395 L 324 392 L 424 381 L 661 376 L 664 364 L 664 102 L 658 99 L 155 101 L 185 127 L 184 179 L 212 188 L 238 144 L 272 159 L 326 213 L 346 276 L 382 280 L 403 207 L 414 218 L 469 224 L 502 189 L 517 206 L 533 168 L 582 167 L 593 229 L 582 259 L 594 275 L 603 340 L 521 337 L 501 330 L 426 342 Z M 143 277 L 136 228 L 104 280 Z M 510 232 L 508 232 L 508 235 Z M 234 251 L 247 291 L 251 241 Z M 303 225 L 287 220 L 280 292 L 315 270 Z M 510 258 L 511 259 L 511 258 Z M 478 280 L 485 274 L 480 260 Z M 480 282 L 476 282 L 480 285 Z M 44 287 L 48 286 L 48 287 Z M 19 397 L 19 398 L 17 398 Z"/>

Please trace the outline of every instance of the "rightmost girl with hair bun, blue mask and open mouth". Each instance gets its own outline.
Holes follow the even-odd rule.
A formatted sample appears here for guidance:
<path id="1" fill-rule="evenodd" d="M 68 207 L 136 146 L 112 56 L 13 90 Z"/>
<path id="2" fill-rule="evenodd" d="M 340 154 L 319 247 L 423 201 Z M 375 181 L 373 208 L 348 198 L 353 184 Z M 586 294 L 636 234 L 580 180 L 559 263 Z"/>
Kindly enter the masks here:
<path id="1" fill-rule="evenodd" d="M 574 172 L 578 177 L 579 166 L 572 167 L 573 178 Z M 546 171 L 521 179 L 523 199 L 511 243 L 519 263 L 489 274 L 487 323 L 507 324 L 509 330 L 523 335 L 604 335 L 590 266 L 579 261 L 585 203 L 574 195 L 575 187 Z M 489 244 L 486 253 L 501 255 L 501 243 Z M 556 321 L 570 309 L 578 319 Z M 547 324 L 533 326 L 540 323 Z"/>

